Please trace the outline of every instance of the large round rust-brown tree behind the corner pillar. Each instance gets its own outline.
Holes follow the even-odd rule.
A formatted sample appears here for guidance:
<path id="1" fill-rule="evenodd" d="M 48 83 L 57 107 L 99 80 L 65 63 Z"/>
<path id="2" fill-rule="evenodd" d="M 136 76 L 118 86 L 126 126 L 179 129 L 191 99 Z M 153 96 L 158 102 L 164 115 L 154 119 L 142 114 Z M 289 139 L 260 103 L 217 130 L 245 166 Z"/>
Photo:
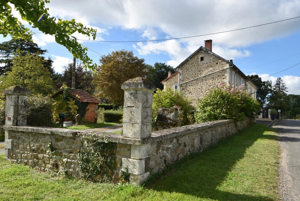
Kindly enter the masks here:
<path id="1" fill-rule="evenodd" d="M 121 84 L 131 78 L 145 77 L 144 61 L 125 49 L 101 56 L 101 65 L 97 68 L 94 79 L 96 96 L 106 98 L 113 104 L 123 105 L 124 91 Z"/>

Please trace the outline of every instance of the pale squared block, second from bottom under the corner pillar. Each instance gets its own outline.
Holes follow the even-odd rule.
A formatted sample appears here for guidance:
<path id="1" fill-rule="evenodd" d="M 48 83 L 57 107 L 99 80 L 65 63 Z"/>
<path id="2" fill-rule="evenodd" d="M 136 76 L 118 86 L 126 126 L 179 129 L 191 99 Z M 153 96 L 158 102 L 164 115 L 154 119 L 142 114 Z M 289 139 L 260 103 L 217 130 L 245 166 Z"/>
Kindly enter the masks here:
<path id="1" fill-rule="evenodd" d="M 122 158 L 122 171 L 135 175 L 142 175 L 145 173 L 145 160 L 135 160 L 131 158 Z"/>

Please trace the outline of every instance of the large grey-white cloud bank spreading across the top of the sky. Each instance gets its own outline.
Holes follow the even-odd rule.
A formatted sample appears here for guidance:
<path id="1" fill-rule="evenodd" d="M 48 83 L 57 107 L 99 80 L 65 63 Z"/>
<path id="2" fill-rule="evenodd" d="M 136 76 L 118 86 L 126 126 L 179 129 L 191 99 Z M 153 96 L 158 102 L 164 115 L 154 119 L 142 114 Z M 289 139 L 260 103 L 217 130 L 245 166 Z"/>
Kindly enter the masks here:
<path id="1" fill-rule="evenodd" d="M 92 6 L 91 6 L 92 5 Z M 298 16 L 299 0 L 253 1 L 176 1 L 172 0 L 52 0 L 49 13 L 83 24 L 122 27 L 140 30 L 143 35 L 157 29 L 171 37 L 210 34 L 244 28 Z M 265 25 L 247 30 L 199 37 L 212 39 L 217 45 L 245 47 L 299 30 L 299 19 Z M 183 42 L 197 41 L 197 38 Z"/>

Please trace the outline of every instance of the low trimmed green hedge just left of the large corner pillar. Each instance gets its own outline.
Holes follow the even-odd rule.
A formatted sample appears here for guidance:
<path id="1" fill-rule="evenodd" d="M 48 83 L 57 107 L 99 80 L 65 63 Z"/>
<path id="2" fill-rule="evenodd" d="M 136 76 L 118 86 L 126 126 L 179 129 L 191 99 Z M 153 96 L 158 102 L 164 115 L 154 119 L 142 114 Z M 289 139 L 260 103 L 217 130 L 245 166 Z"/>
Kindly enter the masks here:
<path id="1" fill-rule="evenodd" d="M 119 123 L 123 121 L 122 119 L 123 119 L 123 110 L 104 110 L 103 108 L 98 108 L 97 123 L 102 123 L 102 122 Z"/>

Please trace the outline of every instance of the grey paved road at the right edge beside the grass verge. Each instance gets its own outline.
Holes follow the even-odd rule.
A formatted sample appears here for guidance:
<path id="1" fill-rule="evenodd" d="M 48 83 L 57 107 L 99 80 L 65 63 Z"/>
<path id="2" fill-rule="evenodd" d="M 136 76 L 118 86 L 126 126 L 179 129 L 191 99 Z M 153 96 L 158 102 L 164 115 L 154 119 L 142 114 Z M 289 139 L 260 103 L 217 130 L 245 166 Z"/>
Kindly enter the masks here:
<path id="1" fill-rule="evenodd" d="M 279 134 L 280 194 L 283 200 L 300 200 L 300 120 L 280 120 L 274 128 Z"/>

